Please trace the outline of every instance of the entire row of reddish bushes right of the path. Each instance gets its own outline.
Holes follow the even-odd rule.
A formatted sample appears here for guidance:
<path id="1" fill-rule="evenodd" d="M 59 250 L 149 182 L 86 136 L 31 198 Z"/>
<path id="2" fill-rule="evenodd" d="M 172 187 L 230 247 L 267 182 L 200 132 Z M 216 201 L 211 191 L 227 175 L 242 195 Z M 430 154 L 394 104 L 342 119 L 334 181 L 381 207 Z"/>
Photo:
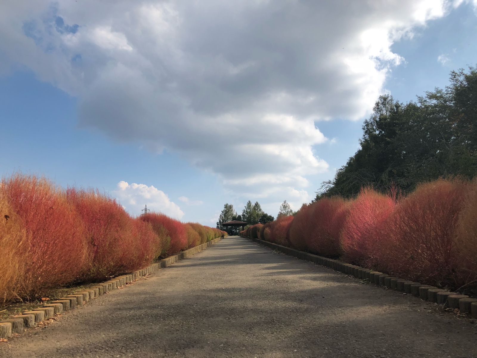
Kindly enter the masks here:
<path id="1" fill-rule="evenodd" d="M 242 234 L 425 284 L 477 287 L 477 181 L 423 183 L 405 197 L 363 189 Z"/>

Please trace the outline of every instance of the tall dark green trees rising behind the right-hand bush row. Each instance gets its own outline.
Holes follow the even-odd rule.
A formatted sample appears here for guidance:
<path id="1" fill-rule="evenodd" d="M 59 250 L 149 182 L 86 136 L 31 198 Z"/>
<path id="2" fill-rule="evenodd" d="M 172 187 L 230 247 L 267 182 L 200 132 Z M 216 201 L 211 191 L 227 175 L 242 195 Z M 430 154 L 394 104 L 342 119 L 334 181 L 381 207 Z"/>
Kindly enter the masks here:
<path id="1" fill-rule="evenodd" d="M 473 178 L 477 173 L 477 69 L 453 71 L 445 89 L 436 88 L 401 103 L 382 95 L 363 124 L 360 148 L 323 196 L 355 196 L 362 187 L 403 193 L 439 177 Z"/>

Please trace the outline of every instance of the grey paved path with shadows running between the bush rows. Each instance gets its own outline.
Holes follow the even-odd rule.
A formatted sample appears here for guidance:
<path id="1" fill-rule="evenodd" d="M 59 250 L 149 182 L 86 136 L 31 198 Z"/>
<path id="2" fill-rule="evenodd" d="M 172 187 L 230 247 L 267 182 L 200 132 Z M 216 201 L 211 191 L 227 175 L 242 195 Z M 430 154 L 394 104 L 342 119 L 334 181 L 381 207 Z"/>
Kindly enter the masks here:
<path id="1" fill-rule="evenodd" d="M 0 357 L 477 357 L 432 304 L 232 236 L 0 344 Z"/>

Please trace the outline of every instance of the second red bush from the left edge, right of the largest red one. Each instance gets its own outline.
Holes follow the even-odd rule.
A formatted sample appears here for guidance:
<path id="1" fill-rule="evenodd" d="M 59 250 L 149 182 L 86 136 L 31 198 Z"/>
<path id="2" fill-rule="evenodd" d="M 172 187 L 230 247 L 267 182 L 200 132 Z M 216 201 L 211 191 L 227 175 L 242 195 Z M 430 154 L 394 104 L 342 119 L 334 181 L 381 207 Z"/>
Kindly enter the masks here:
<path id="1" fill-rule="evenodd" d="M 68 202 L 83 220 L 88 238 L 88 268 L 84 280 L 104 280 L 136 267 L 134 252 L 139 242 L 133 238 L 133 221 L 124 208 L 97 190 L 66 190 Z"/>

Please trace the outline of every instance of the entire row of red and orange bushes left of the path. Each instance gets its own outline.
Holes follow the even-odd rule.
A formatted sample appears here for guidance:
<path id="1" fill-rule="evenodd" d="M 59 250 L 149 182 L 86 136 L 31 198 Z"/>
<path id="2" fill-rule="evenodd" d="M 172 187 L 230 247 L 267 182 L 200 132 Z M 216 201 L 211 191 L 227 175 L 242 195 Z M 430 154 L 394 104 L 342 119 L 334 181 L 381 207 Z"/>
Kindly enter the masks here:
<path id="1" fill-rule="evenodd" d="M 226 234 L 159 213 L 133 218 L 97 190 L 16 174 L 0 182 L 0 304 L 132 272 Z"/>

